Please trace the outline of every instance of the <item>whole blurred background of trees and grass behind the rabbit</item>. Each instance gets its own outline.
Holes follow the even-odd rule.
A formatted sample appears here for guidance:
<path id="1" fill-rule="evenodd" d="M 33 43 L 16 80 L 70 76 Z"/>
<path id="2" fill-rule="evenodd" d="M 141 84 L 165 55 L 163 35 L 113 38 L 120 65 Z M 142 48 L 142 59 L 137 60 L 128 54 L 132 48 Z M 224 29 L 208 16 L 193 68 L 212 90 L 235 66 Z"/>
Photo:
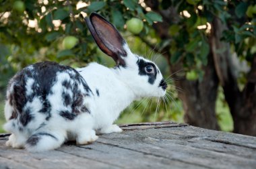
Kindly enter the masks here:
<path id="1" fill-rule="evenodd" d="M 255 91 L 248 91 L 255 85 L 255 1 L 0 0 L 0 5 L 0 126 L 7 82 L 25 66 L 42 60 L 74 68 L 114 65 L 84 23 L 96 11 L 120 30 L 134 53 L 155 60 L 171 79 L 166 99 L 135 101 L 117 123 L 171 120 L 256 135 L 241 129 L 238 113 L 248 116 L 248 124 L 255 120 L 249 118 L 255 113 L 251 107 L 241 111 L 246 101 L 255 103 Z M 143 23 L 136 34 L 137 23 L 127 25 L 134 17 Z M 67 36 L 76 43 L 63 44 Z"/>

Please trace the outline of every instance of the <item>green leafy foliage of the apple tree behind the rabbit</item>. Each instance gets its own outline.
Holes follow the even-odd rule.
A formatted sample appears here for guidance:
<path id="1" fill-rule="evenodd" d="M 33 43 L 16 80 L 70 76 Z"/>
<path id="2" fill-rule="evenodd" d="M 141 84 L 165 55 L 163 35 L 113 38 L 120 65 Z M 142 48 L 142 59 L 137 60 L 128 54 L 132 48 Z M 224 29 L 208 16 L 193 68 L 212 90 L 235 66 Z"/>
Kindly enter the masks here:
<path id="1" fill-rule="evenodd" d="M 71 66 L 86 66 L 93 60 L 103 64 L 108 62 L 110 59 L 102 57 L 84 22 L 84 16 L 93 11 L 106 17 L 121 30 L 128 43 L 131 42 L 131 48 L 140 54 L 145 54 L 145 50 L 148 50 L 148 47 L 144 48 L 146 44 L 141 39 L 147 40 L 159 50 L 168 48 L 171 54 L 168 58 L 170 63 L 183 62 L 183 68 L 189 74 L 187 77 L 190 76 L 192 80 L 203 78 L 202 67 L 207 64 L 207 56 L 210 54 L 208 38 L 212 32 L 210 27 L 214 16 L 226 23 L 227 30 L 223 32 L 222 40 L 231 44 L 232 52 L 236 52 L 241 60 L 246 60 L 250 65 L 256 53 L 255 1 L 158 1 L 159 9 L 172 7 L 174 13 L 178 13 L 174 16 L 168 15 L 170 18 L 162 18 L 154 10 L 147 11 L 136 0 L 92 0 L 85 1 L 86 4 L 79 8 L 77 4 L 81 1 L 77 0 L 24 0 L 24 9 L 22 7 L 21 10 L 13 8 L 15 1 L 17 0 L 0 2 L 0 93 L 15 72 L 34 62 L 52 60 Z M 143 21 L 143 30 L 137 37 L 132 36 L 125 28 L 126 21 L 132 17 Z M 152 27 L 154 22 L 162 20 L 170 23 L 170 27 L 166 27 L 170 36 L 168 38 L 156 36 Z M 74 36 L 78 39 L 78 44 L 69 50 L 63 48 L 61 44 L 66 36 Z M 164 69 L 168 72 L 168 68 Z M 246 82 L 243 79 L 246 79 L 245 76 L 241 76 L 239 82 Z M 220 107 L 223 106 L 220 104 Z M 155 102 L 152 107 L 156 108 Z M 164 109 L 164 106 L 160 107 L 160 112 L 164 112 Z M 171 115 L 162 119 L 182 116 L 182 110 L 172 109 L 173 111 L 168 111 L 172 112 Z M 139 109 L 142 110 L 143 108 Z M 148 120 L 146 117 L 152 118 L 145 113 L 139 120 Z M 158 113 L 156 119 L 161 119 L 160 117 L 161 113 Z"/>

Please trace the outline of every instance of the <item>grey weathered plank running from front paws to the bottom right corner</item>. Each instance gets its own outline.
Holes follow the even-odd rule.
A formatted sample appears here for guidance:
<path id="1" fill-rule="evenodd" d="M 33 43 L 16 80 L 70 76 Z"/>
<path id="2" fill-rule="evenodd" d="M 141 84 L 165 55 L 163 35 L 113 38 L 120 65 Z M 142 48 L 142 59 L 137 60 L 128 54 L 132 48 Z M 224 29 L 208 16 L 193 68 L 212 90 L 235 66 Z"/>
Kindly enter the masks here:
<path id="1" fill-rule="evenodd" d="M 129 139 L 127 139 L 127 136 Z M 171 144 L 167 138 L 156 139 L 140 133 L 136 133 L 135 136 L 119 135 L 115 139 L 104 137 L 98 142 L 205 168 L 210 168 L 211 166 L 215 166 L 214 168 L 227 168 L 228 165 L 231 168 L 244 168 L 244 166 L 255 168 L 256 166 L 256 161 L 252 159 L 203 150 L 203 148 L 193 148 L 187 145 Z"/>

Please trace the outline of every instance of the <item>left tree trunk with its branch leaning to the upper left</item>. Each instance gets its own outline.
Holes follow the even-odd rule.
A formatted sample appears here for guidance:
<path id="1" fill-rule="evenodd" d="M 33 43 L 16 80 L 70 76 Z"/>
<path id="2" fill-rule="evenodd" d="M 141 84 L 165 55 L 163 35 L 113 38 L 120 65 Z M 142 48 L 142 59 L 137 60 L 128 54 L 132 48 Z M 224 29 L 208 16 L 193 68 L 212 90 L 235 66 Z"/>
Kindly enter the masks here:
<path id="1" fill-rule="evenodd" d="M 158 1 L 156 0 L 146 0 L 145 3 L 163 17 L 163 22 L 154 24 L 156 34 L 158 34 L 162 40 L 171 39 L 167 27 L 170 26 L 170 21 L 179 21 L 177 9 L 169 7 L 168 9 L 160 10 L 158 8 Z M 152 48 L 154 50 L 155 46 L 152 46 Z M 170 46 L 167 46 L 161 52 L 170 66 L 170 74 L 173 74 L 172 78 L 180 78 L 181 76 L 175 72 L 183 69 L 183 62 L 180 61 L 177 64 L 171 64 L 171 54 L 169 51 Z M 198 127 L 218 130 L 219 126 L 215 111 L 218 93 L 218 76 L 214 68 L 212 52 L 209 54 L 208 64 L 203 70 L 205 74 L 201 82 L 199 82 L 199 80 L 187 80 L 183 75 L 183 79 L 175 81 L 175 86 L 178 89 L 179 98 L 183 101 L 185 122 Z"/>

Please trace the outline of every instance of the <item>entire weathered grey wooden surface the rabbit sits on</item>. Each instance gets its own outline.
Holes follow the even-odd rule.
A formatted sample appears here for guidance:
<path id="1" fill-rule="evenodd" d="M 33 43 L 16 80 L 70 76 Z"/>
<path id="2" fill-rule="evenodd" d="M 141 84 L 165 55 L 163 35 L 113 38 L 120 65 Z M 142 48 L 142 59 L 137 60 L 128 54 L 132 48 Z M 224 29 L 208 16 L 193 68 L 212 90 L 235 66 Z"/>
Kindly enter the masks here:
<path id="1" fill-rule="evenodd" d="M 0 135 L 0 168 L 256 168 L 256 137 L 172 122 L 121 127 L 87 146 L 42 153 L 7 148 Z"/>

